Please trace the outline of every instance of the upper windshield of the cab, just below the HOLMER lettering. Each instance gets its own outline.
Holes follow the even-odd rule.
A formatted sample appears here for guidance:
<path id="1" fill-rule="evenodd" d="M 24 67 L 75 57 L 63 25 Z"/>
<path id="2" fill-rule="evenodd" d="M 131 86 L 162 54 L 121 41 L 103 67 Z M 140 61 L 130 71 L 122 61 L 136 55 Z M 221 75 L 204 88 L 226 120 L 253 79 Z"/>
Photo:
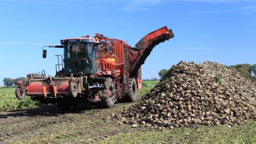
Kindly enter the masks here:
<path id="1" fill-rule="evenodd" d="M 65 44 L 64 59 L 94 58 L 93 43 Z"/>

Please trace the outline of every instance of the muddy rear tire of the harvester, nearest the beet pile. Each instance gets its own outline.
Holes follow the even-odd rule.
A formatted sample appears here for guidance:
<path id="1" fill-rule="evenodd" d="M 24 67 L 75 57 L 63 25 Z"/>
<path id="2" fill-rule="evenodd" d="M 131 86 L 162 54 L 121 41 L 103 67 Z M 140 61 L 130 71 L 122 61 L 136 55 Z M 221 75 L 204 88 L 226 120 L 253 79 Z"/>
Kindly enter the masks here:
<path id="1" fill-rule="evenodd" d="M 129 78 L 129 92 L 118 102 L 135 102 L 137 100 L 137 83 L 134 77 Z"/>

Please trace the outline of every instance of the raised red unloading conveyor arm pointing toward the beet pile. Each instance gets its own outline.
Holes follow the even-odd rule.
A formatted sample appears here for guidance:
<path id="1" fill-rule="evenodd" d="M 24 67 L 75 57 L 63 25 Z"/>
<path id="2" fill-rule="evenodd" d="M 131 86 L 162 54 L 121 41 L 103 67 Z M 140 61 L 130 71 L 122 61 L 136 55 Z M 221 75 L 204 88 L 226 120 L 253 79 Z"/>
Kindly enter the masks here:
<path id="1" fill-rule="evenodd" d="M 142 64 L 144 64 L 148 55 L 152 49 L 159 43 L 173 38 L 174 34 L 172 29 L 169 29 L 165 26 L 156 31 L 153 31 L 146 36 L 144 36 L 136 45 L 135 48 L 128 46 L 128 52 L 131 56 L 130 60 L 130 75 L 136 75 L 137 70 Z"/>

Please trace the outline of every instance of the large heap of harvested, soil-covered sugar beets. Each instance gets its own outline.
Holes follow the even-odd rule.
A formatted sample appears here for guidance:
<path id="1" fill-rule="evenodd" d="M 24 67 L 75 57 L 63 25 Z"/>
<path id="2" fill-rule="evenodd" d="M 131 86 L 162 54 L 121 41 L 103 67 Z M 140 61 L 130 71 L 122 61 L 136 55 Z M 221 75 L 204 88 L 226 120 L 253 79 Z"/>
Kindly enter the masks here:
<path id="1" fill-rule="evenodd" d="M 132 127 L 235 126 L 256 119 L 256 85 L 217 62 L 180 61 L 142 100 L 110 118 Z"/>

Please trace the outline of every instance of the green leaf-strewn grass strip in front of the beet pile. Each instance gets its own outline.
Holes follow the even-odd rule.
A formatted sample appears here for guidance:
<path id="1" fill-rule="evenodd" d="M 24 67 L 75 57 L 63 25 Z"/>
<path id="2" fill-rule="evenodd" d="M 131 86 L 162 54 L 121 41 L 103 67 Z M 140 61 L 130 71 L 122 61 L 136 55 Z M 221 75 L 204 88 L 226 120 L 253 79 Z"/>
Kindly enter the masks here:
<path id="1" fill-rule="evenodd" d="M 198 126 L 118 133 L 102 143 L 256 143 L 256 121 L 241 126 Z"/>

